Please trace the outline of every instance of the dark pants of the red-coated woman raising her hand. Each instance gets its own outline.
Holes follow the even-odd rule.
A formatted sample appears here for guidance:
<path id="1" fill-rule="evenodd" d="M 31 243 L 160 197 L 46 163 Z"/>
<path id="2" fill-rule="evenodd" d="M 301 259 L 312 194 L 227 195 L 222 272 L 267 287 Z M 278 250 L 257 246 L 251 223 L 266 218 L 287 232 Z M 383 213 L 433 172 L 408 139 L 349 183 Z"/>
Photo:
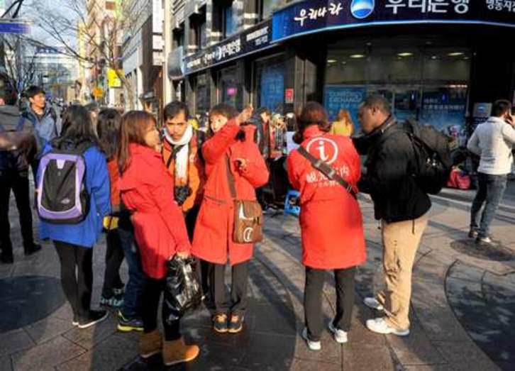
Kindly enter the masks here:
<path id="1" fill-rule="evenodd" d="M 209 267 L 211 297 L 214 299 L 216 314 L 237 314 L 243 316 L 247 304 L 248 262 L 232 267 L 231 302 L 226 300 L 226 265 L 211 264 Z"/>

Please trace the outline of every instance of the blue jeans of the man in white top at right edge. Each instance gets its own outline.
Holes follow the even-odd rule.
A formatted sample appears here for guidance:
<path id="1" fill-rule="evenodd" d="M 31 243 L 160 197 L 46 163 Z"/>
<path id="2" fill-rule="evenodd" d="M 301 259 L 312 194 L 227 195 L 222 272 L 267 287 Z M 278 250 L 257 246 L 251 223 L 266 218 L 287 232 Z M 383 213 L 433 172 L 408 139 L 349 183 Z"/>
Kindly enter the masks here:
<path id="1" fill-rule="evenodd" d="M 495 211 L 504 196 L 506 190 L 507 175 L 488 175 L 482 172 L 477 173 L 477 194 L 472 201 L 470 211 L 470 228 L 477 231 L 479 237 L 487 237 L 490 224 L 494 220 Z M 479 221 L 479 214 L 486 201 L 484 210 Z"/>

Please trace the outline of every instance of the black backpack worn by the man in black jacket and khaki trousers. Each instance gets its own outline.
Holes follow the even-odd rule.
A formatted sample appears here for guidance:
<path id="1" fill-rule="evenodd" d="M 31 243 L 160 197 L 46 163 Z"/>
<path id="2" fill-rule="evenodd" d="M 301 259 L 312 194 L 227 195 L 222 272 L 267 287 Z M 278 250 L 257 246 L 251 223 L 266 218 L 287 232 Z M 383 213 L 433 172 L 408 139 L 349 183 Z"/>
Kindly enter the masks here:
<path id="1" fill-rule="evenodd" d="M 413 121 L 404 123 L 415 153 L 413 175 L 419 187 L 428 194 L 438 194 L 448 182 L 453 161 L 449 138 L 431 125 Z"/>

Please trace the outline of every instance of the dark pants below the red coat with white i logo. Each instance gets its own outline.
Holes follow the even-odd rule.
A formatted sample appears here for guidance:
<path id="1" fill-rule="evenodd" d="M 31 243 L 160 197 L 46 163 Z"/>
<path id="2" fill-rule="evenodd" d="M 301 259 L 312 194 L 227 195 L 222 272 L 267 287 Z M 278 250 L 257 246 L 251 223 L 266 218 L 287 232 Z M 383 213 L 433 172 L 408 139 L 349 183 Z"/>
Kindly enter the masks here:
<path id="1" fill-rule="evenodd" d="M 334 270 L 336 284 L 336 317 L 333 325 L 343 331 L 350 330 L 350 321 L 354 306 L 354 275 L 356 267 Z M 308 337 L 319 341 L 323 330 L 322 291 L 325 270 L 306 267 L 306 284 L 304 285 L 304 316 Z"/>

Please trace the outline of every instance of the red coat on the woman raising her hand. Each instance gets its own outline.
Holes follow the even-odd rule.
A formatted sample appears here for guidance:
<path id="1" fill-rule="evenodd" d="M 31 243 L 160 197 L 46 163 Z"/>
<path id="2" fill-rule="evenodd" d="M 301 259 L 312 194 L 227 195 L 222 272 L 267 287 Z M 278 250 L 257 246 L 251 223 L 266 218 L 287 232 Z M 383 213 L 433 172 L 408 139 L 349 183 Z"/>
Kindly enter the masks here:
<path id="1" fill-rule="evenodd" d="M 252 126 L 245 126 L 245 141 L 236 140 L 240 130 L 229 121 L 202 145 L 206 161 L 206 184 L 199 216 L 196 219 L 192 253 L 202 260 L 231 265 L 250 260 L 253 244 L 233 242 L 234 206 L 227 179 L 226 156 L 231 162 L 238 199 L 255 200 L 255 188 L 268 181 L 268 170 L 254 143 Z M 236 159 L 248 160 L 247 170 L 236 169 Z"/>

